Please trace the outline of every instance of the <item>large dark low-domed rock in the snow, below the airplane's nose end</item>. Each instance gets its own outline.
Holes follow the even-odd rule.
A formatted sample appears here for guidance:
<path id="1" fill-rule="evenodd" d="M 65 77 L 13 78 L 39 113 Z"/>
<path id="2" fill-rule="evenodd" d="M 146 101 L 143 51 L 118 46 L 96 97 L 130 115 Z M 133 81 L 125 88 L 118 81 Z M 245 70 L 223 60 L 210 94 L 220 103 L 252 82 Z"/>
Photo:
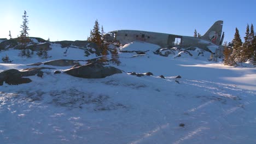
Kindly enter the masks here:
<path id="1" fill-rule="evenodd" d="M 100 63 L 90 63 L 77 68 L 68 69 L 64 73 L 86 79 L 101 79 L 106 76 L 122 73 L 122 71 L 115 67 L 103 67 Z"/>

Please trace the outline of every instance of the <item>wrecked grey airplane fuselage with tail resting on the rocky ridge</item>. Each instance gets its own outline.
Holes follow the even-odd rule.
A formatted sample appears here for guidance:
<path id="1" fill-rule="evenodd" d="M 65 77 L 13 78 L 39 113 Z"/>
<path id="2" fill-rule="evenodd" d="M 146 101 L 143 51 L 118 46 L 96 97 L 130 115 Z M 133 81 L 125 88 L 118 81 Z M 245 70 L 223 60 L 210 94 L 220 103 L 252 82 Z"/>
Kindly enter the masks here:
<path id="1" fill-rule="evenodd" d="M 132 41 L 144 41 L 164 47 L 179 46 L 183 48 L 199 47 L 202 50 L 215 52 L 222 45 L 224 32 L 222 34 L 223 21 L 216 21 L 208 31 L 200 38 L 183 35 L 135 31 L 118 30 L 105 35 L 107 41 L 115 41 L 122 45 Z"/>

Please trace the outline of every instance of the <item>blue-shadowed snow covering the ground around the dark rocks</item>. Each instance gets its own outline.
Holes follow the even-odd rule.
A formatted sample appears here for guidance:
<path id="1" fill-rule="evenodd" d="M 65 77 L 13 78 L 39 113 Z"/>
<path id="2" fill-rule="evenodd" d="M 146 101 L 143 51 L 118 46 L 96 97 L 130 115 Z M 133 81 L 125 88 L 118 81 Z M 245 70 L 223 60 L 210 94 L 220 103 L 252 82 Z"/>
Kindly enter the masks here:
<path id="1" fill-rule="evenodd" d="M 83 50 L 69 48 L 63 56 L 65 50 L 54 45 L 46 60 L 2 51 L 1 57 L 7 53 L 14 61 L 0 63 L 0 71 L 52 59 L 89 59 Z M 154 75 L 82 79 L 54 75 L 56 69 L 69 68 L 55 67 L 44 70 L 42 78 L 30 76 L 31 83 L 4 83 L 1 143 L 256 143 L 255 68 L 226 67 L 208 62 L 208 57 L 162 57 L 152 51 L 133 55 L 119 53 L 121 64 L 113 66 Z M 175 79 L 177 75 L 182 78 Z"/>

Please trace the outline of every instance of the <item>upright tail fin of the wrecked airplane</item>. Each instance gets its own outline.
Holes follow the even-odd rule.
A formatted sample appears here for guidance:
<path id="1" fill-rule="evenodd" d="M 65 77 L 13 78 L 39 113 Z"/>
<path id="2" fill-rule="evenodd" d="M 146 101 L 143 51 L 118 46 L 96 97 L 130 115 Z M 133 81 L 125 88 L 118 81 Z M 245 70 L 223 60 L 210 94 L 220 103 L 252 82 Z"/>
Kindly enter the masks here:
<path id="1" fill-rule="evenodd" d="M 222 25 L 223 21 L 216 21 L 201 38 L 211 41 L 213 44 L 220 45 Z"/>

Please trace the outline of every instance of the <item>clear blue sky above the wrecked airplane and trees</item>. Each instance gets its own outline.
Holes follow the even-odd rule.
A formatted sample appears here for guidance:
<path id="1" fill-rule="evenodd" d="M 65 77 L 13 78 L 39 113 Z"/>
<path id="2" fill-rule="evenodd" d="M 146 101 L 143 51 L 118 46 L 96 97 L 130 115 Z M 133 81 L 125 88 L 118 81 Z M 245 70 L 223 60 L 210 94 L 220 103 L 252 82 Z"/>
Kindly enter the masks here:
<path id="1" fill-rule="evenodd" d="M 223 20 L 224 41 L 231 41 L 235 27 L 245 36 L 247 23 L 256 26 L 256 1 L 191 0 L 0 0 L 0 38 L 20 34 L 22 15 L 27 11 L 30 37 L 57 40 L 86 40 L 98 19 L 104 31 L 135 29 L 193 36 L 204 34 Z M 254 28 L 256 29 L 256 27 Z"/>

